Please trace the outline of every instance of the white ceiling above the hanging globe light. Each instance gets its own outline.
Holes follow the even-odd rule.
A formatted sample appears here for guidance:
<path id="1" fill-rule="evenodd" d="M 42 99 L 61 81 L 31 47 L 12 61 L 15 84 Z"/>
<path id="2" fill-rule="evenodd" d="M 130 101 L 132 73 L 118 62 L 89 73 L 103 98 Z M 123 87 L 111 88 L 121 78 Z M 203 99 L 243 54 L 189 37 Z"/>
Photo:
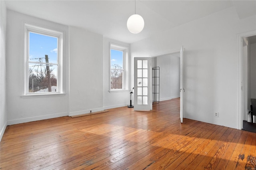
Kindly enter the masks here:
<path id="1" fill-rule="evenodd" d="M 240 19 L 256 15 L 256 0 L 136 0 L 136 14 L 144 30 L 126 27 L 134 14 L 134 0 L 6 0 L 6 6 L 30 16 L 85 28 L 106 38 L 133 43 L 226 8 L 235 7 Z"/>

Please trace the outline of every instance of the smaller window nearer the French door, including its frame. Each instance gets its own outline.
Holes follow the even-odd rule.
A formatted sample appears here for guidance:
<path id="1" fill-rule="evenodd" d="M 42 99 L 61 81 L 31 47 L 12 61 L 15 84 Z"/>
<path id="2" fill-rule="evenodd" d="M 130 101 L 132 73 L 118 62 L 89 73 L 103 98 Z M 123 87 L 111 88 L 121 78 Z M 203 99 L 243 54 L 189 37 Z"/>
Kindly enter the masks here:
<path id="1" fill-rule="evenodd" d="M 127 90 L 128 47 L 110 43 L 110 92 Z"/>

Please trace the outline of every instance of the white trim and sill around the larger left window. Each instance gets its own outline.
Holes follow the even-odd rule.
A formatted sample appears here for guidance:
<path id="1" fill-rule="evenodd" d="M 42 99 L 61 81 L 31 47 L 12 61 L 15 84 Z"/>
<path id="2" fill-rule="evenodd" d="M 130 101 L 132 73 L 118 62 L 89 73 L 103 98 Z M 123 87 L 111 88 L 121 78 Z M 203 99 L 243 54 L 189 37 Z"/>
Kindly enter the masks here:
<path id="1" fill-rule="evenodd" d="M 23 77 L 22 77 L 22 98 L 36 98 L 36 97 L 58 97 L 58 96 L 64 96 L 64 89 L 63 89 L 63 37 L 64 37 L 64 32 L 62 31 L 56 31 L 50 28 L 44 28 L 41 26 L 36 26 L 32 24 L 28 24 L 24 22 L 24 60 L 22 64 L 22 69 L 23 69 Z M 57 85 L 58 85 L 58 91 L 57 92 L 45 92 L 45 93 L 29 93 L 28 92 L 28 59 L 29 59 L 29 47 L 28 47 L 28 32 L 34 32 L 38 34 L 43 34 L 46 36 L 53 36 L 58 38 L 58 73 L 57 73 Z"/>

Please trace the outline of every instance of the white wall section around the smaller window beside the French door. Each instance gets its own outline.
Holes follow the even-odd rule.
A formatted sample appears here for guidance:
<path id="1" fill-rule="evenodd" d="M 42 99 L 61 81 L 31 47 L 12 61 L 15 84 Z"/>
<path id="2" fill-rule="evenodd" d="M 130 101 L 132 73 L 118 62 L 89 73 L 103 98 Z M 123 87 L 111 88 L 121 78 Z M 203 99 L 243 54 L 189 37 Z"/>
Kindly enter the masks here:
<path id="1" fill-rule="evenodd" d="M 128 91 L 109 92 L 109 77 L 110 77 L 110 42 L 128 47 L 128 69 L 130 69 L 130 44 L 103 38 L 103 107 L 111 109 L 115 107 L 123 107 L 130 104 L 130 84 Z M 130 70 L 128 70 L 128 82 L 130 81 Z M 132 101 L 133 102 L 133 101 Z"/>

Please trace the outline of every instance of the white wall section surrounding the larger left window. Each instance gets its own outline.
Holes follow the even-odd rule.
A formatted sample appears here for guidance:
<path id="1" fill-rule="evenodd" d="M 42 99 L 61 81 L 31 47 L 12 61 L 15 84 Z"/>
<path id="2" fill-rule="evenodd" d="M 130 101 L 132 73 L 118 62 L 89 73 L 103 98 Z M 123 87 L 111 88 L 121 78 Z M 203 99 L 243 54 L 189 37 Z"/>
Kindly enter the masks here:
<path id="1" fill-rule="evenodd" d="M 64 91 L 62 97 L 38 97 L 22 98 L 22 74 L 21 67 L 24 58 L 22 32 L 23 24 L 26 21 L 32 24 L 46 26 L 65 32 L 64 41 Z M 69 89 L 69 66 L 68 66 L 68 26 L 56 24 L 32 16 L 20 14 L 11 10 L 7 11 L 7 124 L 17 124 L 29 121 L 49 119 L 68 115 L 68 89 Z"/>

